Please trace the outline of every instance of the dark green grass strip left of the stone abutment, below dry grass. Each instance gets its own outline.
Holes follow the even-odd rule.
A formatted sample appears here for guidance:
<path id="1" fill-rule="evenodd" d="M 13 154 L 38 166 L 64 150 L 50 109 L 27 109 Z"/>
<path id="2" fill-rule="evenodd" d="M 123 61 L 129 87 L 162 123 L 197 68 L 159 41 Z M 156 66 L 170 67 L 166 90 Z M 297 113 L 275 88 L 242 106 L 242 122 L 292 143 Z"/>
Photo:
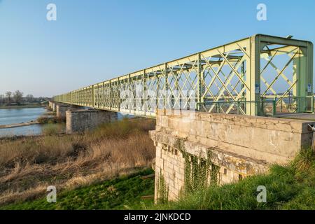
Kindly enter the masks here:
<path id="1" fill-rule="evenodd" d="M 76 190 L 57 192 L 57 202 L 48 203 L 43 197 L 29 202 L 9 204 L 3 209 L 143 209 L 153 200 L 142 200 L 141 196 L 154 194 L 154 179 L 142 180 L 140 177 L 152 174 L 152 169 L 145 169 L 131 175 L 94 183 Z"/>

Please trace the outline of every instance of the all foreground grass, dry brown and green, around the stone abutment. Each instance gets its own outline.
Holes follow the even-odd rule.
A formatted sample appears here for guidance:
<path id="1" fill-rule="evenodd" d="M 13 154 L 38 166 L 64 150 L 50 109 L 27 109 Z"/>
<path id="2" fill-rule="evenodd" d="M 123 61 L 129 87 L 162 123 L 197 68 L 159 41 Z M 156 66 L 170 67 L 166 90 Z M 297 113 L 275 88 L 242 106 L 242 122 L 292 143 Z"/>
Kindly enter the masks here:
<path id="1" fill-rule="evenodd" d="M 315 209 L 311 149 L 267 174 L 195 190 L 176 202 L 141 200 L 154 192 L 153 179 L 139 179 L 152 173 L 148 130 L 154 127 L 154 120 L 140 118 L 84 134 L 0 140 L 0 209 Z M 51 185 L 56 204 L 45 200 Z M 266 187 L 267 202 L 257 202 L 258 186 Z"/>

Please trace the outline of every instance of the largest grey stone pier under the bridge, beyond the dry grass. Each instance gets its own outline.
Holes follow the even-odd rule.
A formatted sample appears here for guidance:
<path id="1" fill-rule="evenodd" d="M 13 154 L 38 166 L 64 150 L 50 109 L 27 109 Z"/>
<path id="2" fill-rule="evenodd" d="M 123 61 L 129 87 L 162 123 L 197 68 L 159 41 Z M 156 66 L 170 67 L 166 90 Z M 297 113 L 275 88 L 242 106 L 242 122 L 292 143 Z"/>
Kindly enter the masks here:
<path id="1" fill-rule="evenodd" d="M 92 130 L 94 127 L 112 120 L 117 120 L 118 114 L 99 110 L 69 110 L 66 111 L 66 134 Z"/>

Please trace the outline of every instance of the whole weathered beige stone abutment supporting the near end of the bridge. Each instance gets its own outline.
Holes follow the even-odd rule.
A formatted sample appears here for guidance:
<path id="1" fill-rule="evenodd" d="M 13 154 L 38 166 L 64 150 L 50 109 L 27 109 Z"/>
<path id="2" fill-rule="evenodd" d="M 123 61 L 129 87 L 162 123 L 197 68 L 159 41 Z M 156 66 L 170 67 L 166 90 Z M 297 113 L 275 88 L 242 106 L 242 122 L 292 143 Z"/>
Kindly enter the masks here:
<path id="1" fill-rule="evenodd" d="M 185 183 L 181 151 L 211 159 L 218 166 L 219 184 L 266 172 L 270 164 L 283 164 L 311 145 L 312 132 L 305 120 L 240 116 L 195 111 L 157 111 L 151 131 L 155 142 L 155 199 L 165 179 L 168 200 L 176 200 Z M 179 148 L 179 140 L 182 142 Z M 207 158 L 211 151 L 211 158 Z"/>

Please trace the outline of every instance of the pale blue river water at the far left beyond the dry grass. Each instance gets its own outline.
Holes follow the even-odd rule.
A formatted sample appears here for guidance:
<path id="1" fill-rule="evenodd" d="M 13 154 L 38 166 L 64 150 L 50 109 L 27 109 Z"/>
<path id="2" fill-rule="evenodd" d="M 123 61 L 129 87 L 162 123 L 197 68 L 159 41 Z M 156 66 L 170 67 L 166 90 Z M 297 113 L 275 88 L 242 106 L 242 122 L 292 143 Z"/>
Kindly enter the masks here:
<path id="1" fill-rule="evenodd" d="M 24 109 L 0 109 L 0 125 L 11 125 L 27 123 L 36 120 L 45 113 L 43 107 Z M 41 134 L 41 125 L 29 125 L 25 127 L 13 127 L 0 129 L 0 137 L 10 137 L 14 135 L 36 135 Z"/>

